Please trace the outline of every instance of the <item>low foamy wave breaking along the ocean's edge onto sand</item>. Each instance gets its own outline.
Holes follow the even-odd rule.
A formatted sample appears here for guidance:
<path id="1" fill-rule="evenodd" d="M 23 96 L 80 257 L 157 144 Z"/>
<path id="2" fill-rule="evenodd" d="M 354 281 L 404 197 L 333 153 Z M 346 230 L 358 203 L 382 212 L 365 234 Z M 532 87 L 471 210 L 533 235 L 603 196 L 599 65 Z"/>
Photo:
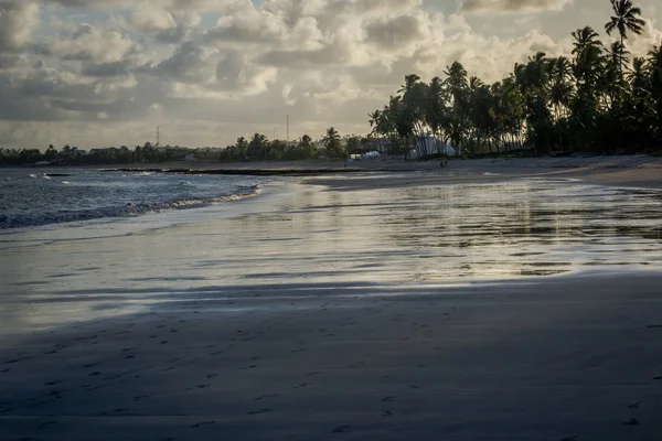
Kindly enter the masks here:
<path id="1" fill-rule="evenodd" d="M 202 208 L 221 202 L 239 201 L 254 197 L 259 193 L 259 185 L 239 187 L 236 193 L 220 196 L 200 197 L 182 201 L 126 204 L 122 206 L 83 209 L 77 212 L 45 213 L 35 215 L 0 214 L 0 229 L 62 224 L 66 222 L 102 219 L 106 217 L 132 217 L 173 209 Z"/>

